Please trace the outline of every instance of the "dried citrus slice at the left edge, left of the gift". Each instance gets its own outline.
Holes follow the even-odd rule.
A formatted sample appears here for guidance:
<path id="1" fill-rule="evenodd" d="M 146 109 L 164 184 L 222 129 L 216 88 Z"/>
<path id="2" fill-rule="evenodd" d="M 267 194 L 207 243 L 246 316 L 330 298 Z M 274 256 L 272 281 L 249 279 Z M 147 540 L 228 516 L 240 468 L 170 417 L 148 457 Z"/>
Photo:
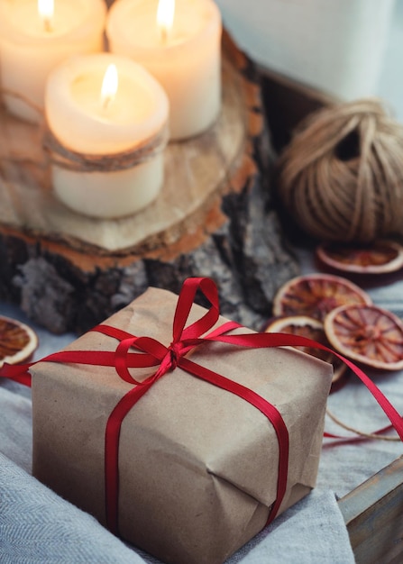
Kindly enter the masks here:
<path id="1" fill-rule="evenodd" d="M 0 315 L 0 368 L 5 362 L 17 364 L 32 357 L 38 337 L 31 327 Z"/>

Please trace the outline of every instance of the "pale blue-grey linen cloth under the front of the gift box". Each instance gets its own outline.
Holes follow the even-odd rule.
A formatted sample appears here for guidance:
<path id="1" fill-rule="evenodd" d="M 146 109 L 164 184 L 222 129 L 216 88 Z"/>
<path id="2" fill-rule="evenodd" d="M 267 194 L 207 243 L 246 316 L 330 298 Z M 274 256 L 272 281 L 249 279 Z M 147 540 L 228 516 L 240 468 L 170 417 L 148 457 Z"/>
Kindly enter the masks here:
<path id="1" fill-rule="evenodd" d="M 0 561 L 3 564 L 159 562 L 106 531 L 0 454 Z M 331 492 L 312 492 L 246 544 L 228 564 L 353 562 Z"/>

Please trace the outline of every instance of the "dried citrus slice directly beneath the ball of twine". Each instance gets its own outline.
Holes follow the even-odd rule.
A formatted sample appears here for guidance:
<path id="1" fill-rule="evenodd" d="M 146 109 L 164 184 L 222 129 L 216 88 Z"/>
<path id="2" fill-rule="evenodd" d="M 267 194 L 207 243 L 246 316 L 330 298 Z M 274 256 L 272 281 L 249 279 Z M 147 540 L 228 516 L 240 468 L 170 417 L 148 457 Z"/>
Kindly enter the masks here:
<path id="1" fill-rule="evenodd" d="M 323 243 L 316 256 L 326 265 L 345 272 L 382 274 L 403 267 L 403 247 L 396 241 L 376 241 L 369 245 Z"/>

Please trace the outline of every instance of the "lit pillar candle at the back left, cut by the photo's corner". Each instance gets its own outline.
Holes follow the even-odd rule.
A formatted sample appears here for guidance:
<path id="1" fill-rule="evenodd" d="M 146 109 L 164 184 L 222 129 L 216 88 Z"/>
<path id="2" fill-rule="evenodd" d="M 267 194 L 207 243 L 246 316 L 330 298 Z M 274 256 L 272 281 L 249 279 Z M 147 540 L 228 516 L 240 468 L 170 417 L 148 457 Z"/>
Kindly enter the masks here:
<path id="1" fill-rule="evenodd" d="M 34 123 L 41 118 L 50 70 L 73 54 L 102 50 L 104 43 L 103 0 L 51 2 L 0 2 L 3 98 L 10 113 Z"/>

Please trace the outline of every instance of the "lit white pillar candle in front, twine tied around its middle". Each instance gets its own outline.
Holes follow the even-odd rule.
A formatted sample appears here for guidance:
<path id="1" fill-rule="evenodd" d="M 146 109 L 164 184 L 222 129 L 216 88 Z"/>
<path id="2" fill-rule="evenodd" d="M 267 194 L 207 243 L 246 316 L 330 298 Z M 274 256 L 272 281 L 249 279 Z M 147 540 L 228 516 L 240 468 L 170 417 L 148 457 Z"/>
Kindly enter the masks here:
<path id="1" fill-rule="evenodd" d="M 111 64 L 117 70 L 117 90 L 101 96 Z M 132 59 L 97 53 L 68 59 L 50 73 L 45 112 L 50 132 L 68 150 L 118 158 L 166 131 L 169 101 L 155 78 Z M 124 169 L 81 171 L 53 164 L 54 192 L 81 214 L 98 218 L 133 214 L 160 192 L 163 146 L 149 159 Z"/>

